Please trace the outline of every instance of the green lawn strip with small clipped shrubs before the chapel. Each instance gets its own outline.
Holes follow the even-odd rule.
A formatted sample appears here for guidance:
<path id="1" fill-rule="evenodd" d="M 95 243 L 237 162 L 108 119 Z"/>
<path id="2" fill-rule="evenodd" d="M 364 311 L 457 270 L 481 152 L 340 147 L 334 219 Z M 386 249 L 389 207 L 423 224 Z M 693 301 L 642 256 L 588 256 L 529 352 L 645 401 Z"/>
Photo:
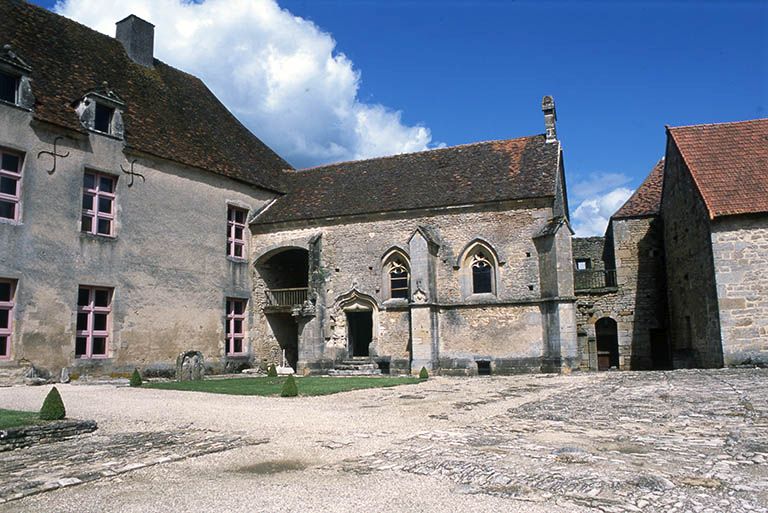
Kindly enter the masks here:
<path id="1" fill-rule="evenodd" d="M 268 378 L 228 378 L 204 379 L 202 381 L 169 381 L 165 383 L 145 383 L 142 388 L 161 390 L 189 390 L 209 392 L 211 394 L 231 395 L 280 395 L 285 377 Z M 307 376 L 296 378 L 299 395 L 328 395 L 363 388 L 395 387 L 420 383 L 419 378 L 378 378 L 378 377 L 321 377 Z"/>

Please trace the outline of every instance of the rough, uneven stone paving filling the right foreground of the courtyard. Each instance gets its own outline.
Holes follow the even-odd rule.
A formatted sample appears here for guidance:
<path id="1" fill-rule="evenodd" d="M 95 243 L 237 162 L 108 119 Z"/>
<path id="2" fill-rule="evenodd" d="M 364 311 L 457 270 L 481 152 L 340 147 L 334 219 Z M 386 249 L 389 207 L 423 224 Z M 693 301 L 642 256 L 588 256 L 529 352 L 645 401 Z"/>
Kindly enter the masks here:
<path id="1" fill-rule="evenodd" d="M 761 370 L 614 373 L 601 386 L 421 432 L 336 468 L 430 475 L 464 493 L 605 512 L 768 512 L 766 377 Z M 536 386 L 546 385 L 498 394 Z"/>

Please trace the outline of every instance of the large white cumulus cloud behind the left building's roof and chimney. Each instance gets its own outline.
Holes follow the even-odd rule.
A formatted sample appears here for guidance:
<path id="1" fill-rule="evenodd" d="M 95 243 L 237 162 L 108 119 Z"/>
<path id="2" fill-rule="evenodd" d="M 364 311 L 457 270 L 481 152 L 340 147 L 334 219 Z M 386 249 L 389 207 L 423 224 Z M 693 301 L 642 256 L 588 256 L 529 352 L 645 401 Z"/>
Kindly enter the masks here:
<path id="1" fill-rule="evenodd" d="M 202 78 L 294 166 L 430 146 L 428 128 L 360 101 L 360 71 L 333 37 L 275 0 L 61 0 L 55 10 L 110 36 L 129 14 L 150 21 L 155 56 Z"/>

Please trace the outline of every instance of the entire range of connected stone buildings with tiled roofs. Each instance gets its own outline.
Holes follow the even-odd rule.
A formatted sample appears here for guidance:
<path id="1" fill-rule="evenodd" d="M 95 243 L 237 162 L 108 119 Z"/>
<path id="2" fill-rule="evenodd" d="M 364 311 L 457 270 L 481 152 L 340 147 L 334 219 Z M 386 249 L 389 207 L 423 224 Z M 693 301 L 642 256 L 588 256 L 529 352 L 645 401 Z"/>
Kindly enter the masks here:
<path id="1" fill-rule="evenodd" d="M 0 375 L 765 362 L 766 120 L 670 128 L 575 239 L 551 97 L 541 135 L 294 170 L 153 38 L 0 0 Z"/>

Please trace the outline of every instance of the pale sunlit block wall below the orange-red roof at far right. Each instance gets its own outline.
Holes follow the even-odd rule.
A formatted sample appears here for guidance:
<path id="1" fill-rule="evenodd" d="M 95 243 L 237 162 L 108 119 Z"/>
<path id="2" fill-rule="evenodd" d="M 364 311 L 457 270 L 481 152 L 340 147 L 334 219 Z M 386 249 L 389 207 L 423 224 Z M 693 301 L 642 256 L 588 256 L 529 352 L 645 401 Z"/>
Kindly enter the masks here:
<path id="1" fill-rule="evenodd" d="M 725 365 L 768 364 L 768 217 L 712 224 Z"/>

